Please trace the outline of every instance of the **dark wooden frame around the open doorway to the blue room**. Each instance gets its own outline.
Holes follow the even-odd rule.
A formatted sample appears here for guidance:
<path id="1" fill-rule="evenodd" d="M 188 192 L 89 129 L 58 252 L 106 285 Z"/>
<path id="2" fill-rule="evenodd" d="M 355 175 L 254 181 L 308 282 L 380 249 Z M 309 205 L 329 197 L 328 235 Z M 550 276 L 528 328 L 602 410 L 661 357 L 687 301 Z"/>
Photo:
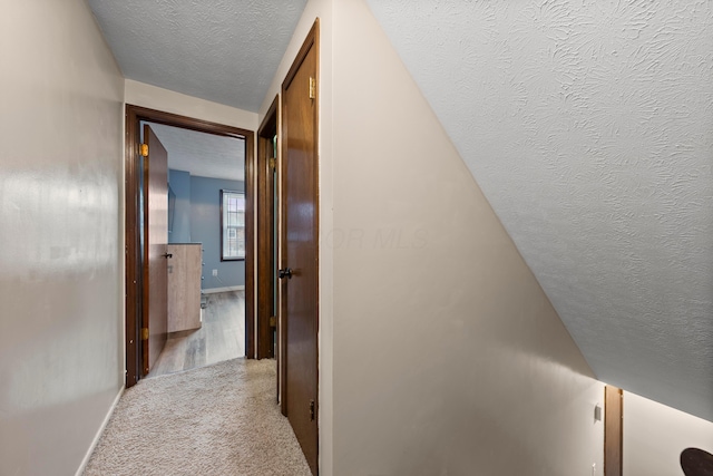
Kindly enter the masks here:
<path id="1" fill-rule="evenodd" d="M 226 126 L 208 120 L 165 113 L 127 104 L 125 108 L 125 253 L 126 253 L 126 387 L 134 386 L 141 376 L 140 319 L 143 310 L 143 260 L 140 249 L 141 215 L 139 213 L 139 168 L 138 144 L 141 120 L 197 130 L 224 137 L 240 137 L 245 140 L 245 356 L 255 356 L 255 133 L 238 127 Z"/>

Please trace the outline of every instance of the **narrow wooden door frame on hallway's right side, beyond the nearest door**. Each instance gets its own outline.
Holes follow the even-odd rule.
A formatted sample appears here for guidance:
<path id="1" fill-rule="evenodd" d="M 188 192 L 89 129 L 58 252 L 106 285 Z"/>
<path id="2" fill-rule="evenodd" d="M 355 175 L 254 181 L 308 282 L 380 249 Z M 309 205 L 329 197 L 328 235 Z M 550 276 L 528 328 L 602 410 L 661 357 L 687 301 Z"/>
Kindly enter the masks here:
<path id="1" fill-rule="evenodd" d="M 257 129 L 257 161 L 256 161 L 256 181 L 257 181 L 257 200 L 256 200 L 256 220 L 257 220 L 257 260 L 256 260 L 256 284 L 257 284 L 257 359 L 270 359 L 275 356 L 274 340 L 271 339 L 270 310 L 273 293 L 276 292 L 273 282 L 273 268 L 277 263 L 277 256 L 273 256 L 272 235 L 273 235 L 273 210 L 275 190 L 273 186 L 272 174 L 270 173 L 271 152 L 277 157 L 277 150 L 272 150 L 272 138 L 277 135 L 277 104 L 279 96 L 272 101 L 272 105 L 265 114 L 263 123 Z M 275 165 L 276 166 L 276 165 Z M 275 309 L 274 315 L 277 315 Z"/>

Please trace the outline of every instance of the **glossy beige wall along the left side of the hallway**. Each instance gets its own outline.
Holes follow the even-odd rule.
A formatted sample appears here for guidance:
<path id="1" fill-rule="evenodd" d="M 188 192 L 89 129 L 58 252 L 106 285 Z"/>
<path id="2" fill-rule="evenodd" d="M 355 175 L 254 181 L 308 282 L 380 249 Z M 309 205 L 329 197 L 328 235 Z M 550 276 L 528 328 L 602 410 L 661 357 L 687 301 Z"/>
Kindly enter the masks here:
<path id="1" fill-rule="evenodd" d="M 124 79 L 82 0 L 0 6 L 0 474 L 70 475 L 124 382 Z"/>

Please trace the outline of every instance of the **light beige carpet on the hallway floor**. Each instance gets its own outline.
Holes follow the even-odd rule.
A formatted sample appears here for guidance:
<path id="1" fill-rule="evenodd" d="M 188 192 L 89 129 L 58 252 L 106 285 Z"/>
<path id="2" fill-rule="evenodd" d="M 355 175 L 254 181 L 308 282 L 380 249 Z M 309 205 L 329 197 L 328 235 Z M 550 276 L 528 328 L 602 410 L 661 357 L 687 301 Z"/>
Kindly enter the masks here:
<path id="1" fill-rule="evenodd" d="M 311 475 L 275 402 L 275 361 L 233 359 L 126 390 L 94 475 Z"/>

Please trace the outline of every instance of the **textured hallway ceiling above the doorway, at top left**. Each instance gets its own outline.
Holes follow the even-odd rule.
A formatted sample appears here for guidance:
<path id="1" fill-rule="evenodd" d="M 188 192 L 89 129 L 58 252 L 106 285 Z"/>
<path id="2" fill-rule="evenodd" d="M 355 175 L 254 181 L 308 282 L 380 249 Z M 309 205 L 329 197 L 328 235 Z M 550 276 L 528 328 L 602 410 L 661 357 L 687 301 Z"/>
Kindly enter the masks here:
<path id="1" fill-rule="evenodd" d="M 257 111 L 306 0 L 88 0 L 124 76 Z"/>

